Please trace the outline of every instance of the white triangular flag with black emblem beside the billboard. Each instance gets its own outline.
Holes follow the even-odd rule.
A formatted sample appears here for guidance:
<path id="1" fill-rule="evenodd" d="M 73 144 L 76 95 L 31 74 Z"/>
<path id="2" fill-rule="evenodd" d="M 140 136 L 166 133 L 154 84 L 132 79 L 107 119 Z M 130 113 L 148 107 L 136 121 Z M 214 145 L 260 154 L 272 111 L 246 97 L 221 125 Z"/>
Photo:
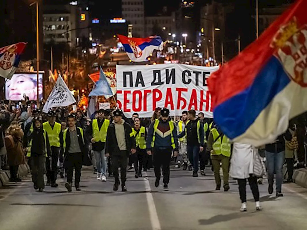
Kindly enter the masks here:
<path id="1" fill-rule="evenodd" d="M 76 99 L 72 96 L 63 78 L 59 76 L 44 105 L 43 112 L 48 113 L 51 108 L 68 106 L 73 103 L 77 103 Z"/>

